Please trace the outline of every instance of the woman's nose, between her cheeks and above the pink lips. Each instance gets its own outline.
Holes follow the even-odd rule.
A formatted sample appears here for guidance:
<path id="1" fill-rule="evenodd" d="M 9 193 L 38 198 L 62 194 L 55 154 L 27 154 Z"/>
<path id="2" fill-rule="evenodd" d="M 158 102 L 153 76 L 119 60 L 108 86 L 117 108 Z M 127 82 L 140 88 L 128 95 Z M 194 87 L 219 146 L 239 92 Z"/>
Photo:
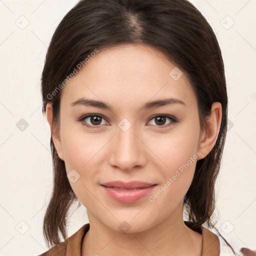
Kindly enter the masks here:
<path id="1" fill-rule="evenodd" d="M 135 134 L 133 126 L 124 131 L 117 127 L 109 145 L 109 164 L 123 171 L 141 168 L 146 163 L 146 146 L 143 138 Z"/>

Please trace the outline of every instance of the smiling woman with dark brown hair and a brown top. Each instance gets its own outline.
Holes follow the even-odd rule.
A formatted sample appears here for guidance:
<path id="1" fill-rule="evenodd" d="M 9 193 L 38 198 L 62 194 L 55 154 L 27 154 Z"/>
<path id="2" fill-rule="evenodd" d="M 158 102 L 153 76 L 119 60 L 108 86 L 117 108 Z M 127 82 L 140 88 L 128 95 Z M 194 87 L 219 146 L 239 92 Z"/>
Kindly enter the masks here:
<path id="1" fill-rule="evenodd" d="M 41 93 L 54 171 L 54 246 L 41 255 L 235 254 L 205 227 L 227 93 L 215 34 L 190 2 L 79 1 L 53 34 Z M 89 223 L 67 238 L 77 201 Z"/>

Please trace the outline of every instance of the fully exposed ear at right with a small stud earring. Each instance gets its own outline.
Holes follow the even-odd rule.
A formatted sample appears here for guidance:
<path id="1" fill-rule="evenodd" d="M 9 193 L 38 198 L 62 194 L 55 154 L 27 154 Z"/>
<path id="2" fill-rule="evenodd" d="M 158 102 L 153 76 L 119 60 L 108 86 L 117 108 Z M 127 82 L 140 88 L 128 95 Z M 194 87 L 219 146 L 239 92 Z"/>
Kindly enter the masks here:
<path id="1" fill-rule="evenodd" d="M 214 102 L 211 105 L 211 113 L 206 120 L 206 128 L 202 132 L 201 139 L 199 141 L 198 150 L 201 152 L 201 155 L 198 156 L 198 160 L 206 156 L 215 145 L 220 129 L 221 117 L 221 103 Z M 202 152 L 204 152 L 204 154 L 202 154 Z"/>

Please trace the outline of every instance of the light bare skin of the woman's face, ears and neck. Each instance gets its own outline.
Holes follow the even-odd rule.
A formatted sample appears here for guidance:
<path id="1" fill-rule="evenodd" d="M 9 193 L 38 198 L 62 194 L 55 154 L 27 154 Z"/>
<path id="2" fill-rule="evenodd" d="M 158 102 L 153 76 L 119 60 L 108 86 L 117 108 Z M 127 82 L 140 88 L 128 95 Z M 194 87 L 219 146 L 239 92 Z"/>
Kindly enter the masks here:
<path id="1" fill-rule="evenodd" d="M 182 206 L 196 160 L 154 202 L 148 199 L 189 157 L 196 152 L 205 153 L 197 160 L 207 155 L 216 142 L 221 122 L 221 104 L 214 102 L 207 127 L 200 133 L 196 97 L 184 73 L 178 80 L 169 75 L 174 67 L 148 45 L 107 48 L 63 88 L 58 126 L 52 123 L 51 103 L 46 106 L 53 142 L 66 171 L 75 169 L 80 175 L 74 183 L 69 182 L 86 207 L 90 223 L 82 241 L 82 256 L 201 253 L 202 235 L 186 227 Z M 107 102 L 112 109 L 71 106 L 82 96 Z M 166 97 L 182 100 L 185 105 L 141 110 L 147 101 Z M 77 121 L 89 113 L 105 118 L 96 124 L 90 117 Z M 171 115 L 179 121 L 174 123 L 166 117 L 160 125 L 152 118 L 155 114 Z M 123 118 L 131 124 L 126 131 L 118 126 Z M 97 127 L 89 128 L 82 122 Z M 157 186 L 133 203 L 121 203 L 99 186 L 117 179 Z M 123 221 L 130 225 L 127 233 L 118 228 Z"/>

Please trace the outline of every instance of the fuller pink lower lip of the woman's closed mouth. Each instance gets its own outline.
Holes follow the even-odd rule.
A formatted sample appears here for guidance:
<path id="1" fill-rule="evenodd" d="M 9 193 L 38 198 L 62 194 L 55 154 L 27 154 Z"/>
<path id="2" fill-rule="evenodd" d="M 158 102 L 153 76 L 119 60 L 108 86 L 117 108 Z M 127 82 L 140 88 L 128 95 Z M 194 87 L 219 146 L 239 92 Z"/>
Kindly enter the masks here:
<path id="1" fill-rule="evenodd" d="M 144 197 L 149 192 L 151 192 L 155 186 L 156 185 L 143 187 L 143 188 L 129 189 L 129 190 L 119 190 L 114 187 L 106 187 L 101 185 L 104 191 L 111 198 L 115 199 L 116 201 L 124 202 L 124 203 L 130 203 L 130 202 L 135 202 L 139 200 L 140 198 Z"/>

